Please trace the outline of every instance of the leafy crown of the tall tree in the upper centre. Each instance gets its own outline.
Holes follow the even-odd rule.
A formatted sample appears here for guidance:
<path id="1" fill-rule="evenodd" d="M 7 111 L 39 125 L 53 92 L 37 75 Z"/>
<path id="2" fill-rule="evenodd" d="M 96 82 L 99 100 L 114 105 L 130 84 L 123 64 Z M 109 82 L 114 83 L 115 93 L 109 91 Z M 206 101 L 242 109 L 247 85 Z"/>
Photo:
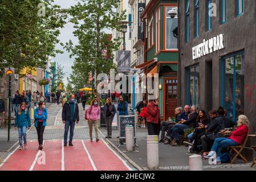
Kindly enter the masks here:
<path id="1" fill-rule="evenodd" d="M 118 22 L 126 18 L 125 12 L 119 14 L 114 10 L 120 3 L 118 0 L 82 0 L 80 2 L 69 10 L 72 16 L 71 22 L 76 28 L 73 33 L 78 37 L 79 44 L 74 46 L 70 40 L 65 46 L 67 51 L 71 52 L 70 57 L 75 56 L 73 72 L 69 79 L 75 89 L 87 83 L 90 72 L 109 74 L 110 69 L 115 68 L 113 51 L 119 48 L 120 38 L 109 40 L 109 35 L 104 30 L 106 28 L 120 30 Z M 105 60 L 102 53 L 105 49 L 110 55 L 108 60 Z"/>

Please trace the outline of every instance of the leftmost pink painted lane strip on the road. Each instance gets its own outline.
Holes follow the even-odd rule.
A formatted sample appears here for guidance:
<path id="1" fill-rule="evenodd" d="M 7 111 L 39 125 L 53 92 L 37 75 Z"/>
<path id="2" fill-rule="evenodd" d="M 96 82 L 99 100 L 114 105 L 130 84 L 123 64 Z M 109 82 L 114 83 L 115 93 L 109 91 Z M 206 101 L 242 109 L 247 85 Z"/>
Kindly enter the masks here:
<path id="1" fill-rule="evenodd" d="M 38 152 L 37 141 L 27 141 L 27 150 L 17 150 L 3 164 L 0 171 L 29 171 Z"/>

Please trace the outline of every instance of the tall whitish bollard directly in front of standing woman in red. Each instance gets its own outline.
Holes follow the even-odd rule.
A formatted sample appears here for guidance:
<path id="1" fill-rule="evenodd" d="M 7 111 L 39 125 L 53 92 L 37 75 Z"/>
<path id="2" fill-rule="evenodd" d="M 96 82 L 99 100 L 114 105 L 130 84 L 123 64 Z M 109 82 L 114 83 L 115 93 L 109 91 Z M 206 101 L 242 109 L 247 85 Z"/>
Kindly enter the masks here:
<path id="1" fill-rule="evenodd" d="M 159 168 L 159 140 L 157 135 L 147 136 L 148 169 Z"/>

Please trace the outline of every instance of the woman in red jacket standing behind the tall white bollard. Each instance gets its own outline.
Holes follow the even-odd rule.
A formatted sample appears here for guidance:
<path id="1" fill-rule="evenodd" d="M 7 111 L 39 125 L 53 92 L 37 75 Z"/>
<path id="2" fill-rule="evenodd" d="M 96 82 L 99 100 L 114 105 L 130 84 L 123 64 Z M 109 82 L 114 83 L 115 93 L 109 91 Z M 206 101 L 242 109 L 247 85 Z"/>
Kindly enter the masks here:
<path id="1" fill-rule="evenodd" d="M 158 100 L 149 102 L 146 110 L 148 135 L 159 135 L 161 129 L 160 108 Z"/>

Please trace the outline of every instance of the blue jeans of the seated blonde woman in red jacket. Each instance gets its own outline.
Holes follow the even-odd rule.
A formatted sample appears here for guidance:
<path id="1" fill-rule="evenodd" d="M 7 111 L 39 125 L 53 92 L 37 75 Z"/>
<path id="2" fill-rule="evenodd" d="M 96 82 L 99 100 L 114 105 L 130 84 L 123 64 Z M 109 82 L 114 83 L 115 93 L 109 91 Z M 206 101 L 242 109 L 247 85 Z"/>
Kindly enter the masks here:
<path id="1" fill-rule="evenodd" d="M 229 146 L 238 146 L 238 143 L 233 139 L 216 138 L 211 151 L 216 151 L 217 156 L 221 156 L 221 148 L 227 148 Z"/>

